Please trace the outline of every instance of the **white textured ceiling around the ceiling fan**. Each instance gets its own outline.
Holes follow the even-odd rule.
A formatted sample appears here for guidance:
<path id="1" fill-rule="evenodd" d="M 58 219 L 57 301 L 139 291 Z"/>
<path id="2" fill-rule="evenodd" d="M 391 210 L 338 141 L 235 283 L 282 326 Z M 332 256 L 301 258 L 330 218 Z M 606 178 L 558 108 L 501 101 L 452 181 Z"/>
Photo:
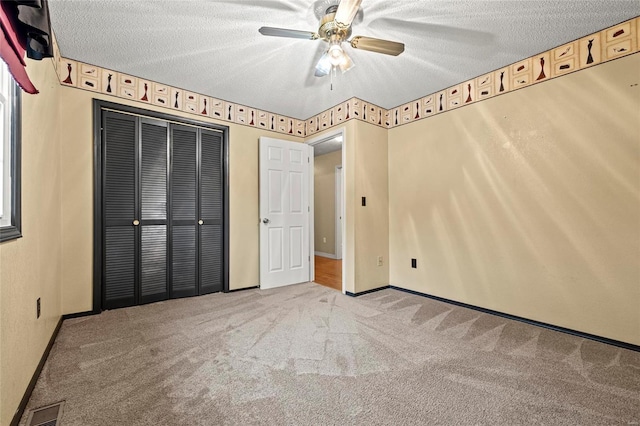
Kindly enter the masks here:
<path id="1" fill-rule="evenodd" d="M 334 0 L 333 2 L 337 2 Z M 316 31 L 331 0 L 50 0 L 61 54 L 218 99 L 306 119 L 348 98 L 392 108 L 640 15 L 638 0 L 364 0 L 353 35 L 401 41 L 386 56 L 313 76 L 326 44 L 265 37 Z"/>

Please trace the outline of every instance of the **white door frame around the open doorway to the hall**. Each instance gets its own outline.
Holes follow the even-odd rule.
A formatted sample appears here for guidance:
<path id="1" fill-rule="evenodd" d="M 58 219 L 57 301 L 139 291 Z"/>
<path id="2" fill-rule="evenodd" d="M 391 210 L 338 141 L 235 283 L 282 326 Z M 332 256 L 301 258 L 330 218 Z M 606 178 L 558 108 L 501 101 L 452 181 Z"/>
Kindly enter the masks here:
<path id="1" fill-rule="evenodd" d="M 327 133 L 325 135 L 322 136 L 318 136 L 315 137 L 313 139 L 308 140 L 307 142 L 305 142 L 307 145 L 311 145 L 312 147 L 314 145 L 318 145 L 322 142 L 326 142 L 328 140 L 334 139 L 336 136 L 342 136 L 342 188 L 341 188 L 341 193 L 342 193 L 342 227 L 340 229 L 340 234 L 341 234 L 341 240 L 342 240 L 342 251 L 343 253 L 345 251 L 347 251 L 347 241 L 346 241 L 346 232 L 345 232 L 345 223 L 347 223 L 347 216 L 346 216 L 346 209 L 345 209 L 345 200 L 344 200 L 344 194 L 345 194 L 345 179 L 344 176 L 346 176 L 345 174 L 345 169 L 346 169 L 346 152 L 347 150 L 345 149 L 345 145 L 347 143 L 347 129 L 344 127 L 340 127 L 338 129 L 335 129 L 333 131 L 328 131 L 330 133 Z M 314 241 L 314 235 L 315 235 L 315 218 L 314 218 L 314 173 L 313 173 L 313 154 L 311 155 L 311 170 L 309 172 L 309 203 L 311 204 L 311 212 L 309 214 L 309 242 L 310 242 L 310 246 L 309 246 L 309 253 L 315 253 L 315 241 Z M 336 232 L 337 233 L 337 232 Z M 344 256 L 342 256 L 342 294 L 346 294 L 346 286 L 345 286 L 345 282 L 346 282 L 346 276 L 344 273 Z M 315 259 L 314 256 L 311 256 L 311 265 L 310 265 L 310 275 L 311 275 L 311 281 L 313 281 L 315 279 Z"/>

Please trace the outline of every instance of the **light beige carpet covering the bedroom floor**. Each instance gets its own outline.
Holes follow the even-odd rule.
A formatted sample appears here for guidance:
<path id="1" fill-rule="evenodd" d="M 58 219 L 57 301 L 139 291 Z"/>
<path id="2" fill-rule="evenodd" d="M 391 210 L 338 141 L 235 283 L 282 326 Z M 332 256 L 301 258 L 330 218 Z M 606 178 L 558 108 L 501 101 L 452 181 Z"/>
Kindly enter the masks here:
<path id="1" fill-rule="evenodd" d="M 394 289 L 307 283 L 63 323 L 62 425 L 640 423 L 640 353 Z"/>

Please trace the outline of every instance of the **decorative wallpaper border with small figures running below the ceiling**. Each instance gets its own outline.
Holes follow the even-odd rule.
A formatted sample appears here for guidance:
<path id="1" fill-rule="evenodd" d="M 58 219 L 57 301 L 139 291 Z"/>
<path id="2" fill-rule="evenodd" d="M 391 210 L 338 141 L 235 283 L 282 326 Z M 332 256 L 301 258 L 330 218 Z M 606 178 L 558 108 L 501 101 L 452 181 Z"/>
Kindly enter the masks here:
<path id="1" fill-rule="evenodd" d="M 55 38 L 54 67 L 63 86 L 303 138 L 349 120 L 392 129 L 637 53 L 639 46 L 640 17 L 635 17 L 389 110 L 354 97 L 307 120 L 63 58 Z"/>

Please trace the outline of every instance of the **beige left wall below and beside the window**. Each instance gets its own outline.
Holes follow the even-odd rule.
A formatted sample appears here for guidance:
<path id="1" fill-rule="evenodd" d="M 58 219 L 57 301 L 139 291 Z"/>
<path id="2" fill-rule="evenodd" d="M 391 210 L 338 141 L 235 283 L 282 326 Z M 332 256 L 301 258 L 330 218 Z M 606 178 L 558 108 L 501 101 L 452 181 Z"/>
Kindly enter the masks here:
<path id="1" fill-rule="evenodd" d="M 60 89 L 51 60 L 29 60 L 27 69 L 40 93 L 22 95 L 23 237 L 0 243 L 2 425 L 18 408 L 62 311 Z"/>

